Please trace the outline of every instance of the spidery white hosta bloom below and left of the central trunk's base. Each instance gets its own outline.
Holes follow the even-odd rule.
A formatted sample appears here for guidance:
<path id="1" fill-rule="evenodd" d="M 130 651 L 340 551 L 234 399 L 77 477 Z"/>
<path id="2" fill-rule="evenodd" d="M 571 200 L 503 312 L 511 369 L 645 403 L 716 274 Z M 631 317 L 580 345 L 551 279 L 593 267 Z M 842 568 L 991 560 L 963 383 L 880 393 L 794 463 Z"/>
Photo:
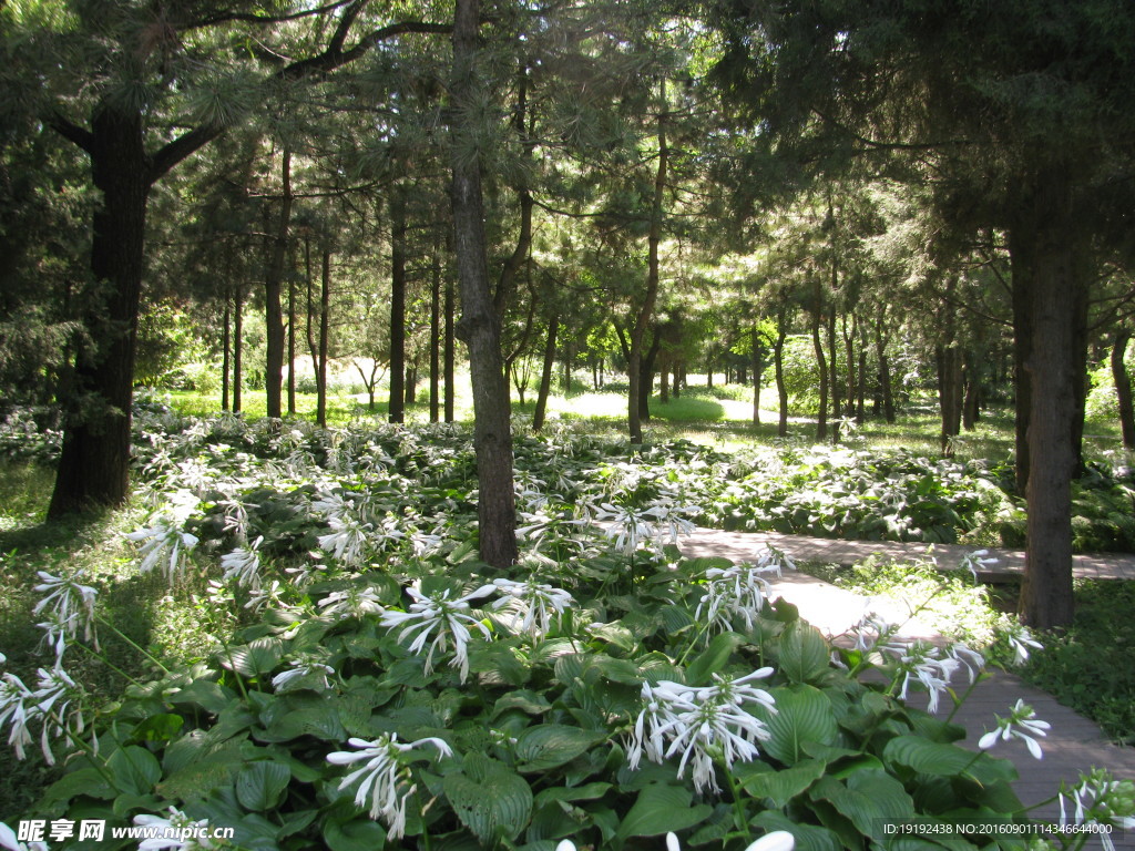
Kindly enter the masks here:
<path id="1" fill-rule="evenodd" d="M 461 682 L 465 682 L 469 676 L 469 641 L 472 638 L 469 626 L 480 630 L 486 639 L 491 638 L 491 633 L 480 618 L 468 614 L 469 603 L 487 597 L 495 590 L 496 585 L 481 585 L 464 597 L 451 600 L 448 589 L 430 596 L 422 593 L 415 583 L 406 589 L 406 592 L 414 598 L 414 603 L 410 604 L 410 610 L 384 613 L 382 625 L 392 630 L 403 626 L 404 629 L 398 633 L 398 641 L 418 633 L 410 644 L 410 651 L 418 655 L 421 655 L 426 642 L 436 632 L 426 654 L 427 674 L 434 669 L 434 652 L 436 650 L 444 652 L 452 640 L 453 662 L 451 665 L 460 668 Z"/>

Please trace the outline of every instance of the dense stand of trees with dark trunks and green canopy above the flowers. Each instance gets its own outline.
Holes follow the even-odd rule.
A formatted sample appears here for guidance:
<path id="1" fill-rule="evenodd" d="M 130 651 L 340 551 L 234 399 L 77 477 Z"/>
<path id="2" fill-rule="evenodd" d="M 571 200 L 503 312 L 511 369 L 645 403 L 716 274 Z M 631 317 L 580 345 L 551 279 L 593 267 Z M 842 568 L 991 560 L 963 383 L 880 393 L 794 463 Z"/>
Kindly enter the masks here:
<path id="1" fill-rule="evenodd" d="M 1132 47 L 1123 0 L 8 2 L 0 393 L 64 426 L 61 515 L 126 496 L 136 382 L 280 416 L 306 359 L 323 418 L 352 362 L 453 419 L 468 354 L 495 564 L 510 382 L 539 428 L 557 363 L 627 376 L 634 441 L 695 371 L 756 379 L 755 419 L 767 376 L 818 439 L 923 388 L 947 453 L 1000 394 L 1024 614 L 1065 623 L 1090 348 L 1129 337 Z"/>

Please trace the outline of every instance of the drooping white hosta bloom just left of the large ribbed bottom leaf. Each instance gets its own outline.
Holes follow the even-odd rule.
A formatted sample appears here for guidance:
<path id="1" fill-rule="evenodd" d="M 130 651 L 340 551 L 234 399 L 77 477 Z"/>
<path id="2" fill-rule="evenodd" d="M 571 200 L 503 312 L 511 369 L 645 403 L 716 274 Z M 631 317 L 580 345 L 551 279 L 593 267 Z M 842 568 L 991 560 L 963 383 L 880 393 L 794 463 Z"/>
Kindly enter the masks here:
<path id="1" fill-rule="evenodd" d="M 328 753 L 327 761 L 333 765 L 352 765 L 367 760 L 367 764 L 344 777 L 339 789 L 359 782 L 355 804 L 365 807 L 369 801 L 370 817 L 382 819 L 392 840 L 401 839 L 406 831 L 406 802 L 415 789 L 410 783 L 410 768 L 405 765 L 410 758 L 405 755 L 426 744 L 436 748 L 443 757 L 453 756 L 453 749 L 442 739 L 432 736 L 417 742 L 400 742 L 394 733 L 373 741 L 348 739 L 347 744 L 359 750 Z"/>

